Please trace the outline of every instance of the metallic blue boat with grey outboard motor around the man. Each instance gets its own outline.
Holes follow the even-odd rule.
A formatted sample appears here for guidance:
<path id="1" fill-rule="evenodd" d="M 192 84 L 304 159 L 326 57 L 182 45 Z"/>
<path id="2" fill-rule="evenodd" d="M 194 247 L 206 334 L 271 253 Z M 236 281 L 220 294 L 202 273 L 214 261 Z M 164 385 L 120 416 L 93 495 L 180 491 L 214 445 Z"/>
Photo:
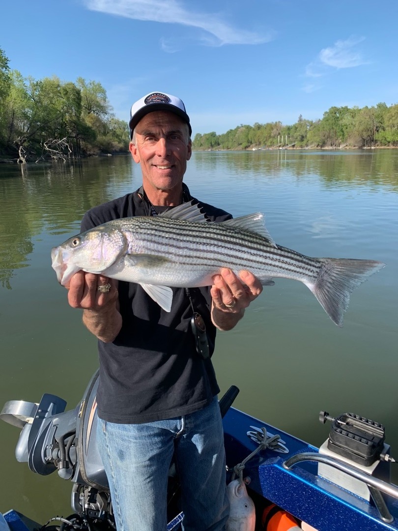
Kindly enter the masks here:
<path id="1" fill-rule="evenodd" d="M 72 482 L 73 515 L 42 526 L 10 509 L 0 515 L 0 531 L 33 529 L 115 529 L 108 483 L 96 446 L 98 372 L 82 400 L 65 411 L 66 402 L 45 393 L 40 402 L 6 402 L 0 418 L 18 427 L 18 461 L 38 474 L 57 471 Z M 320 448 L 232 407 L 235 386 L 220 399 L 228 481 L 245 486 L 254 502 L 254 527 L 286 531 L 386 531 L 398 529 L 398 487 L 391 483 L 394 459 L 384 426 L 352 413 L 332 417 Z M 179 482 L 169 472 L 168 531 L 181 528 Z M 275 515 L 290 524 L 275 524 Z M 271 523 L 273 524 L 271 526 Z M 281 526 L 284 527 L 281 527 Z M 58 526 L 58 527 L 57 527 Z M 279 526 L 279 527 L 278 527 Z"/>

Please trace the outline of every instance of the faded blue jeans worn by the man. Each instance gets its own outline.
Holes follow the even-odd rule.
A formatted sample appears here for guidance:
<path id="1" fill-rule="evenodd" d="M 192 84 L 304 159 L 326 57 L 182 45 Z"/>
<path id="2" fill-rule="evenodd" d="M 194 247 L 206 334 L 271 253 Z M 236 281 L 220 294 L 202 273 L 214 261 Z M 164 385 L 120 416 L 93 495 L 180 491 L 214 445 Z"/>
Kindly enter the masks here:
<path id="1" fill-rule="evenodd" d="M 165 531 L 167 481 L 175 454 L 184 531 L 221 531 L 229 514 L 217 397 L 189 415 L 147 424 L 98 419 L 97 442 L 117 531 Z"/>

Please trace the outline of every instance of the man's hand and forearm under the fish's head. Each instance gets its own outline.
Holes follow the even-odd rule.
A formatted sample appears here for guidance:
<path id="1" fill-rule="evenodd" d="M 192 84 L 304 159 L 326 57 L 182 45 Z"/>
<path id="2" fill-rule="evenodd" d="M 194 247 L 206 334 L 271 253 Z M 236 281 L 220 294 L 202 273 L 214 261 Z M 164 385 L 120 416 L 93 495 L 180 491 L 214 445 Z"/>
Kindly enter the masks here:
<path id="1" fill-rule="evenodd" d="M 98 286 L 108 283 L 109 292 L 98 291 Z M 69 304 L 83 310 L 83 323 L 105 343 L 113 341 L 122 328 L 117 286 L 117 280 L 84 271 L 75 273 L 67 286 Z"/>

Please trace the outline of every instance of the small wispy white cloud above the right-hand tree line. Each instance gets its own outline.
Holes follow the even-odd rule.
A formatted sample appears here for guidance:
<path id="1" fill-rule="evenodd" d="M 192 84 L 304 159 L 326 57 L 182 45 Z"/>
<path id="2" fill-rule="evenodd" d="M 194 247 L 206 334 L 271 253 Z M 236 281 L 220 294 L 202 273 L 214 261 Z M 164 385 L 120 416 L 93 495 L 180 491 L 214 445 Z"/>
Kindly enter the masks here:
<path id="1" fill-rule="evenodd" d="M 334 69 L 340 70 L 340 68 L 353 68 L 368 64 L 361 52 L 353 49 L 363 40 L 365 37 L 350 37 L 347 40 L 336 41 L 333 46 L 323 48 L 316 59 L 306 66 L 305 76 L 320 78 Z"/>

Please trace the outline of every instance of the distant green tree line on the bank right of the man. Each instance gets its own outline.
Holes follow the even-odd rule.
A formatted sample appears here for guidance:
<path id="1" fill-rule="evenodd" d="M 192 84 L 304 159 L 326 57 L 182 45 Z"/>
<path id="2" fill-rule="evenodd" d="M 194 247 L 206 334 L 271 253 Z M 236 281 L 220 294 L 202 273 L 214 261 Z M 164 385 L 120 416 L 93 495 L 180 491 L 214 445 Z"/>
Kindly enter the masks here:
<path id="1" fill-rule="evenodd" d="M 226 133 L 195 135 L 193 149 L 371 148 L 398 146 L 398 104 L 388 107 L 331 107 L 322 119 L 239 125 Z"/>

